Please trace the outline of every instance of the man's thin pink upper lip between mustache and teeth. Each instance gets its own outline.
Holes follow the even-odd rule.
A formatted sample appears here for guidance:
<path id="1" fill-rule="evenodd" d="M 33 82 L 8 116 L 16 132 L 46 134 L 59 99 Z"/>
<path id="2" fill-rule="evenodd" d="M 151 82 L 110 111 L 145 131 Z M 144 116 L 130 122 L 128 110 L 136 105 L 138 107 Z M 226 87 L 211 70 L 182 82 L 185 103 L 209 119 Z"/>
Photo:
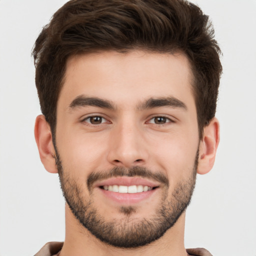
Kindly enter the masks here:
<path id="1" fill-rule="evenodd" d="M 160 183 L 157 181 L 148 180 L 142 177 L 111 177 L 101 181 L 97 181 L 94 183 L 94 187 L 104 186 L 104 185 L 123 185 L 123 186 L 131 186 L 131 185 L 143 185 L 143 186 L 151 186 L 156 187 L 159 186 Z"/>

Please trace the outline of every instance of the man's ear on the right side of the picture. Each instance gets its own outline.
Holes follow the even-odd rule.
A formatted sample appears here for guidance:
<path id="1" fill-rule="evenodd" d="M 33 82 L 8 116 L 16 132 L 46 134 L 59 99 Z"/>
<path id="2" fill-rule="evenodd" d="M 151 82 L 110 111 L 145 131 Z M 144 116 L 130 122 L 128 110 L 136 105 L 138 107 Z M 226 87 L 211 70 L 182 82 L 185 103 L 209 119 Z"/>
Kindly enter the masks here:
<path id="1" fill-rule="evenodd" d="M 203 137 L 199 145 L 197 173 L 205 174 L 211 170 L 215 161 L 218 143 L 219 122 L 214 117 L 203 129 Z"/>

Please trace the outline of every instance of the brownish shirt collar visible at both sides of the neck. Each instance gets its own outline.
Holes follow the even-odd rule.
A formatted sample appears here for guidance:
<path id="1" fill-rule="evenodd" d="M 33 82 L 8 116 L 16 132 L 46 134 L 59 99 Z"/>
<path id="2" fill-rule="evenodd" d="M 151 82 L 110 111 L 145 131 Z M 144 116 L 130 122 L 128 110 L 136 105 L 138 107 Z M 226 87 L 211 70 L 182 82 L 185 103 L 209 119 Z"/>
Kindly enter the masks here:
<path id="1" fill-rule="evenodd" d="M 63 242 L 47 242 L 34 256 L 57 256 L 63 246 Z M 212 256 L 204 248 L 186 249 L 189 256 Z"/>

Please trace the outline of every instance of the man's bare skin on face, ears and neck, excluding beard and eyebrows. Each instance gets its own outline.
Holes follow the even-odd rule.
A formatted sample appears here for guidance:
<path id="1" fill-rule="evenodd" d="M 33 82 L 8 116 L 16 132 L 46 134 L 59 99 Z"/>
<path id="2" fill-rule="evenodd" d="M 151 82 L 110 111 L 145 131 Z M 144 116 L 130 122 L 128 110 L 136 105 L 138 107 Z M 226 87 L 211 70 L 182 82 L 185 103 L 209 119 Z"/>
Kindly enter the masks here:
<path id="1" fill-rule="evenodd" d="M 124 219 L 120 204 L 106 198 L 98 187 L 86 186 L 94 170 L 115 166 L 143 166 L 167 176 L 167 198 L 173 188 L 191 176 L 199 147 L 200 174 L 213 166 L 219 142 L 219 124 L 213 118 L 204 127 L 199 141 L 196 106 L 192 95 L 189 62 L 185 55 L 134 50 L 106 51 L 72 56 L 67 61 L 63 87 L 57 102 L 56 147 L 64 170 L 82 187 L 85 198 L 106 220 Z M 70 107 L 77 96 L 108 100 L 114 109 L 92 105 Z M 171 97 L 185 107 L 165 105 L 141 108 L 150 98 Z M 91 124 L 88 116 L 102 116 Z M 154 117 L 166 117 L 155 123 Z M 36 118 L 35 139 L 42 163 L 56 173 L 52 134 L 43 115 Z M 162 198 L 161 186 L 148 198 L 136 203 L 130 221 L 150 218 Z M 61 256 L 65 255 L 187 255 L 184 249 L 185 212 L 158 240 L 136 249 L 109 246 L 79 224 L 66 205 L 66 235 Z M 96 254 L 95 254 L 96 253 Z"/>

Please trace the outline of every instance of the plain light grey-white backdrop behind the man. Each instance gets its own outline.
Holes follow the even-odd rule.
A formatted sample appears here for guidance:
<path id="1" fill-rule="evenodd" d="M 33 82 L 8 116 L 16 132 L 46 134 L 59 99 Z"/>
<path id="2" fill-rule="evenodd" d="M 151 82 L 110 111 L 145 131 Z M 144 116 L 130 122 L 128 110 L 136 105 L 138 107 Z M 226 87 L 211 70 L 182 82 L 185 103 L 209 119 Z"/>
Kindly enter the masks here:
<path id="1" fill-rule="evenodd" d="M 64 239 L 64 200 L 33 136 L 40 114 L 31 49 L 65 0 L 0 0 L 0 256 L 33 255 Z M 256 0 L 194 0 L 223 52 L 213 169 L 197 178 L 185 246 L 256 256 Z"/>

